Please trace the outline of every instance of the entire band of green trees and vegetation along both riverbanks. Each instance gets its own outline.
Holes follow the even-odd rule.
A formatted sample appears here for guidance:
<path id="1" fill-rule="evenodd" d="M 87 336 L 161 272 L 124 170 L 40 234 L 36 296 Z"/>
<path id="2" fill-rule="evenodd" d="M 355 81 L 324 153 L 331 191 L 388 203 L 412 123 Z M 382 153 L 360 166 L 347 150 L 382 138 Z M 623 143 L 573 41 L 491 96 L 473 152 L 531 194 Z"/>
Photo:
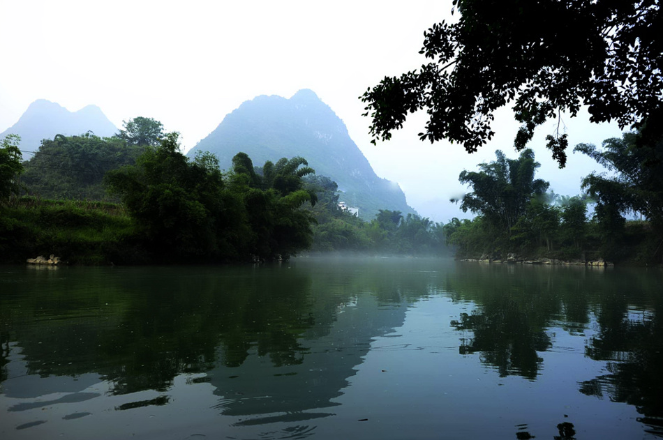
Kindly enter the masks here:
<path id="1" fill-rule="evenodd" d="M 640 132 L 602 149 L 576 147 L 613 172 L 587 176 L 586 194 L 576 197 L 546 192 L 531 150 L 517 159 L 497 151 L 495 161 L 459 176 L 472 191 L 456 202 L 475 218 L 442 226 L 388 209 L 362 220 L 339 206 L 338 185 L 304 158 L 256 167 L 238 153 L 221 172 L 209 152 L 183 155 L 177 133 L 164 135 L 154 120 L 125 128 L 109 138 L 45 139 L 24 163 L 18 139 L 3 140 L 4 261 L 51 253 L 86 264 L 266 261 L 307 251 L 445 255 L 446 243 L 466 258 L 651 264 L 663 254 L 663 142 L 643 142 Z M 39 197 L 17 199 L 20 188 Z M 634 214 L 645 220 L 626 220 Z"/>

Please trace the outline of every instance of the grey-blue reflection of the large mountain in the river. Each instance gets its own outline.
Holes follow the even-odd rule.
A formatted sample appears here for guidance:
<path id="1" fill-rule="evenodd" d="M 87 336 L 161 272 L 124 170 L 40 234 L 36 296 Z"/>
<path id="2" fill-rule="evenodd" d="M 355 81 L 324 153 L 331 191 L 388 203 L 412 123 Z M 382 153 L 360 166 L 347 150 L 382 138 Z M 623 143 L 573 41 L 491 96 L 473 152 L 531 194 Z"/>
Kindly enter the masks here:
<path id="1" fill-rule="evenodd" d="M 301 346 L 306 349 L 296 362 L 272 360 L 269 365 L 257 353 L 246 359 L 239 372 L 217 365 L 208 374 L 216 388 L 214 393 L 224 399 L 223 414 L 243 416 L 238 425 L 309 420 L 332 414 L 306 411 L 337 406 L 333 399 L 348 386 L 355 365 L 368 354 L 371 339 L 403 324 L 405 305 L 395 305 L 390 313 L 379 313 L 379 307 L 376 298 L 362 296 L 352 307 L 336 313 L 334 325 L 328 326 L 324 335 L 313 325 L 311 331 L 301 333 Z"/>

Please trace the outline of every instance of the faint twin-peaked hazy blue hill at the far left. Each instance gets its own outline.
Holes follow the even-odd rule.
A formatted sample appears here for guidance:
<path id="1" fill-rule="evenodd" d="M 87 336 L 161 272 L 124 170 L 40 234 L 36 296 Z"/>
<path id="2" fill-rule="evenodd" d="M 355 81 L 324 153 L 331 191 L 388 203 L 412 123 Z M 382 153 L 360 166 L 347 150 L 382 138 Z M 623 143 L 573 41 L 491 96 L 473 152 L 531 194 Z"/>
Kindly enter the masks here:
<path id="1" fill-rule="evenodd" d="M 118 130 L 96 105 L 70 112 L 57 103 L 39 99 L 30 104 L 17 123 L 0 133 L 0 137 L 10 133 L 20 135 L 20 149 L 37 151 L 42 139 L 53 139 L 55 135 L 81 135 L 88 131 L 108 137 Z M 24 155 L 24 159 L 29 157 Z"/>

